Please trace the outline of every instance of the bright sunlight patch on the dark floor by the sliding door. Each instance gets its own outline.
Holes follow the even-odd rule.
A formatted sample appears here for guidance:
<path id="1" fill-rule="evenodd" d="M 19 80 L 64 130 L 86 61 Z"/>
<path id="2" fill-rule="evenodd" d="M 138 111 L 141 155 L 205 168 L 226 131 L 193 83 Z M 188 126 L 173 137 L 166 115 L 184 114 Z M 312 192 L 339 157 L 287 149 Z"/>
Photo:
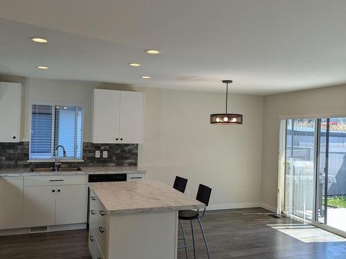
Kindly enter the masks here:
<path id="1" fill-rule="evenodd" d="M 313 227 L 309 224 L 267 224 L 267 226 L 304 243 L 346 242 L 346 238 L 334 235 L 333 233 L 329 233 L 328 231 Z"/>

